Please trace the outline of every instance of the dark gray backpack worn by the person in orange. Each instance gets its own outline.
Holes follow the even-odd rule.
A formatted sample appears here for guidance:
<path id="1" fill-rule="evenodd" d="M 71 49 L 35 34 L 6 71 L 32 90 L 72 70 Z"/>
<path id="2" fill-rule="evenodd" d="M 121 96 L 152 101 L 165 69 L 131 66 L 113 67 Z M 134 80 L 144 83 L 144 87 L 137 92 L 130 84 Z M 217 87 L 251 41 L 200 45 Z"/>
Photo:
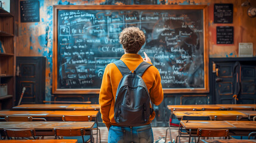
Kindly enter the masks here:
<path id="1" fill-rule="evenodd" d="M 116 91 L 116 123 L 121 126 L 145 125 L 153 109 L 150 108 L 149 91 L 141 76 L 152 64 L 143 61 L 132 73 L 123 61 L 113 63 L 123 76 Z"/>

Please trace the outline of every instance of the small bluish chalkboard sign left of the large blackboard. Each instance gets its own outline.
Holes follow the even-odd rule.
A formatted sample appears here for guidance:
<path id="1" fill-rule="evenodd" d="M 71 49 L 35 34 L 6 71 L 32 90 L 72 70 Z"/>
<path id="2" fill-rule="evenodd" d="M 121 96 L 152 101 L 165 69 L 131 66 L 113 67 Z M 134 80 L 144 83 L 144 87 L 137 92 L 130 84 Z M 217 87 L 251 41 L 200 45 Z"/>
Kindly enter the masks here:
<path id="1" fill-rule="evenodd" d="M 21 22 L 39 22 L 39 1 L 20 1 Z"/>

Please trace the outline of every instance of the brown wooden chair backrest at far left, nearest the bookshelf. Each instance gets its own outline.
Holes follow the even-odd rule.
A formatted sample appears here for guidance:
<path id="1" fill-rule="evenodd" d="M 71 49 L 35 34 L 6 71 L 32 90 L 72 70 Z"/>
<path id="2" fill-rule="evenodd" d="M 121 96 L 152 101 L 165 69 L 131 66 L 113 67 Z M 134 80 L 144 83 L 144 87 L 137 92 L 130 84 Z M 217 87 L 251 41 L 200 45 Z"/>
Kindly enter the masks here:
<path id="1" fill-rule="evenodd" d="M 7 122 L 31 122 L 31 121 L 46 121 L 44 118 L 33 118 L 32 116 L 5 116 Z"/>

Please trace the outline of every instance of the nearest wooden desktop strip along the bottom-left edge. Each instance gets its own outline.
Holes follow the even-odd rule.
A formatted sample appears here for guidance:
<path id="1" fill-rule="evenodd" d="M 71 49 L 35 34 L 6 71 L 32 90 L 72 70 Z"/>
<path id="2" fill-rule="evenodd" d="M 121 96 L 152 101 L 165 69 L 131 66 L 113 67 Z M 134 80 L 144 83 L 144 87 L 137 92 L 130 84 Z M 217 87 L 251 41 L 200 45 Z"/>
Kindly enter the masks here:
<path id="1" fill-rule="evenodd" d="M 77 139 L 10 139 L 1 140 L 1 143 L 77 143 Z"/>

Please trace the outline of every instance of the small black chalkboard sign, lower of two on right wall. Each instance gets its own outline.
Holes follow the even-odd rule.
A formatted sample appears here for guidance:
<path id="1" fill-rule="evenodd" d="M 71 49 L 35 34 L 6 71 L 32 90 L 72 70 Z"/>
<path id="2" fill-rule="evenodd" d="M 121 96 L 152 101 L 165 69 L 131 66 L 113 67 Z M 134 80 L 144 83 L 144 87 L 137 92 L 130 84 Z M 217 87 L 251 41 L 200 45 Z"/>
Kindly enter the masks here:
<path id="1" fill-rule="evenodd" d="M 217 44 L 233 44 L 234 43 L 234 27 L 233 26 L 217 26 Z"/>

